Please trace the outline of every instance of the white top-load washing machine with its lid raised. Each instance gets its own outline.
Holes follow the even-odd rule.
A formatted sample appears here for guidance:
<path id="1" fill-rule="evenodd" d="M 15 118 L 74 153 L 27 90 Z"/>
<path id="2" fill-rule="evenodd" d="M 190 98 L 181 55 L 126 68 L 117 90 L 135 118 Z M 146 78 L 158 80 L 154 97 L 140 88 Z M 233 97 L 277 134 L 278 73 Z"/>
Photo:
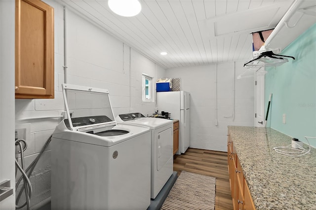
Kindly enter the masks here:
<path id="1" fill-rule="evenodd" d="M 63 90 L 71 120 L 51 140 L 51 209 L 147 209 L 150 129 L 117 123 L 107 90 L 68 84 Z"/>

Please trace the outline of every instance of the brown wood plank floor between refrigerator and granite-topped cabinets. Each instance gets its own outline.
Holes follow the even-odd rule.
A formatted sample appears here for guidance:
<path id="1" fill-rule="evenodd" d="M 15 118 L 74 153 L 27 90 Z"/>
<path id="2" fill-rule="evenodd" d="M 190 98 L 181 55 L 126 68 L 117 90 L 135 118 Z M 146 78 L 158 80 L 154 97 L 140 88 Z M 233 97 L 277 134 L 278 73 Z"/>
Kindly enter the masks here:
<path id="1" fill-rule="evenodd" d="M 178 175 L 187 171 L 215 177 L 215 210 L 233 210 L 227 152 L 189 148 L 184 154 L 174 156 L 173 170 Z"/>

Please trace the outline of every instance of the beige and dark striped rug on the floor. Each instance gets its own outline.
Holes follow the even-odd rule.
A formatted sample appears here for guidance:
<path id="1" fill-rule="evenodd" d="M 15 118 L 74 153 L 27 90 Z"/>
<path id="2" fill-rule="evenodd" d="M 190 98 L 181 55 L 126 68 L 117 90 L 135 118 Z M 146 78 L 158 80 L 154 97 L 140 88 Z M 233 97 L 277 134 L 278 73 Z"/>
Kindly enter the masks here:
<path id="1" fill-rule="evenodd" d="M 214 210 L 216 179 L 182 171 L 161 210 Z"/>

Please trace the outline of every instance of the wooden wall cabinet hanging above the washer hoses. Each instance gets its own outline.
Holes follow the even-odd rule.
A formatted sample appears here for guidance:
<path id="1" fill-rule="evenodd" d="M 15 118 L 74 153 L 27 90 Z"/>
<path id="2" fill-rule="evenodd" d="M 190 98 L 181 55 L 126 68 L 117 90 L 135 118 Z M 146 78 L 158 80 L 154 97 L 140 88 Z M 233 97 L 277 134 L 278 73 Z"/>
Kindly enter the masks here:
<path id="1" fill-rule="evenodd" d="M 15 98 L 54 98 L 54 10 L 41 0 L 16 0 Z"/>

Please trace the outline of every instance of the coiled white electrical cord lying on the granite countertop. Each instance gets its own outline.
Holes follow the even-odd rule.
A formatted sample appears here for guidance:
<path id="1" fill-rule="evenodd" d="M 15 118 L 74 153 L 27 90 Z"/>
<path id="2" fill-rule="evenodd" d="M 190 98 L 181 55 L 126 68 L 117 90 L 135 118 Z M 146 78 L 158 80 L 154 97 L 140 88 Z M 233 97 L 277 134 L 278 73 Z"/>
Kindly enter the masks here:
<path id="1" fill-rule="evenodd" d="M 299 157 L 299 156 L 303 156 L 307 153 L 310 153 L 311 151 L 311 144 L 308 140 L 308 138 L 310 139 L 316 139 L 316 137 L 305 137 L 305 139 L 307 140 L 308 142 L 308 150 L 306 150 L 305 148 L 303 148 L 301 145 L 299 145 L 298 143 L 295 143 L 299 148 L 293 148 L 292 147 L 292 144 L 289 144 L 287 146 L 277 146 L 277 147 L 273 147 L 273 149 L 277 152 L 277 153 L 281 153 L 281 154 L 284 154 L 284 155 L 288 155 L 288 156 L 291 156 L 291 157 Z"/>

